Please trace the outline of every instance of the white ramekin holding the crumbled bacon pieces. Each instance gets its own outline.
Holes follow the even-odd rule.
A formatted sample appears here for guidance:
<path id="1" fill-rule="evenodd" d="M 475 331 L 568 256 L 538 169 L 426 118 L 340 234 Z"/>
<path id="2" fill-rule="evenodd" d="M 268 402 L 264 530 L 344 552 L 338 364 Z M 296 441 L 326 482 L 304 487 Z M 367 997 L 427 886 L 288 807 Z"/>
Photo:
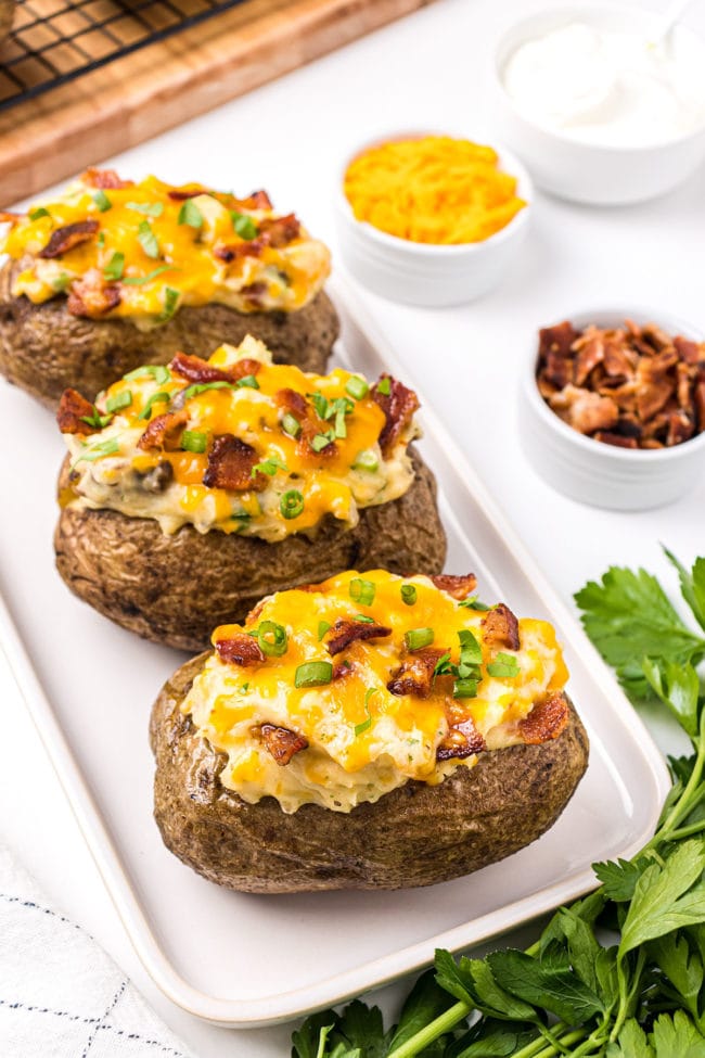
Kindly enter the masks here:
<path id="1" fill-rule="evenodd" d="M 695 342 L 705 339 L 702 331 L 683 320 L 637 308 L 595 309 L 561 319 L 569 319 L 578 330 L 589 323 L 620 327 L 626 319 L 639 326 L 656 322 L 668 334 L 682 334 Z M 586 437 L 544 401 L 536 384 L 537 364 L 538 332 L 526 358 L 518 424 L 522 447 L 549 485 L 593 507 L 639 511 L 670 503 L 703 481 L 705 433 L 672 448 L 655 450 L 617 448 Z"/>

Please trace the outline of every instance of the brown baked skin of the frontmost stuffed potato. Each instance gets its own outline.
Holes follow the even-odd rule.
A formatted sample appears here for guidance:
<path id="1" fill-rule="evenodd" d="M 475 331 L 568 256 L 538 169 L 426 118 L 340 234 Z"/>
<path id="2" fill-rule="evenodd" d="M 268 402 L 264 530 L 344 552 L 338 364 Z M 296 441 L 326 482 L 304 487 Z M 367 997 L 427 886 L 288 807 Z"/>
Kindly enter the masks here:
<path id="1" fill-rule="evenodd" d="M 410 889 L 497 863 L 539 838 L 588 763 L 571 704 L 563 734 L 480 755 L 440 786 L 408 782 L 349 814 L 273 798 L 247 804 L 220 785 L 225 754 L 198 738 L 181 702 L 208 653 L 188 662 L 154 703 L 154 817 L 167 849 L 204 878 L 252 893 Z"/>

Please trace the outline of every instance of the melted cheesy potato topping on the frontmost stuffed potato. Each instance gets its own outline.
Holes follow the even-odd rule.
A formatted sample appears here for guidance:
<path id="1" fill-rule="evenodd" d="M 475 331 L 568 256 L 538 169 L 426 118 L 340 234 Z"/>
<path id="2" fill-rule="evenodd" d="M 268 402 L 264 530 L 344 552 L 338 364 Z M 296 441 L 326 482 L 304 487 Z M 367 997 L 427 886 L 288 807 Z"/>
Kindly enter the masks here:
<path id="1" fill-rule="evenodd" d="M 518 649 L 498 650 L 487 611 L 474 604 L 458 601 L 427 577 L 402 579 L 381 570 L 278 592 L 244 625 L 215 630 L 216 652 L 194 679 L 182 711 L 198 735 L 227 755 L 220 781 L 249 804 L 273 796 L 285 813 L 309 803 L 349 812 L 409 780 L 439 783 L 477 760 L 475 753 L 444 756 L 439 748 L 452 742 L 453 732 L 472 730 L 483 750 L 520 743 L 522 721 L 560 694 L 568 675 L 550 624 L 520 620 Z M 350 627 L 373 622 L 386 635 L 352 639 L 332 654 L 339 621 Z M 274 627 L 280 630 L 272 636 Z M 413 661 L 405 635 L 414 629 L 424 629 L 426 637 L 433 633 L 439 655 L 439 675 L 425 697 L 403 693 L 403 685 L 395 684 L 400 666 Z M 474 690 L 472 697 L 454 697 L 467 633 L 475 643 L 476 686 L 464 687 L 465 693 Z M 244 640 L 247 647 L 248 638 L 253 650 L 254 640 L 270 653 L 245 664 L 223 660 L 229 645 Z M 319 680 L 316 686 L 306 685 L 311 676 Z M 284 736 L 277 734 L 282 730 Z M 282 737 L 298 747 L 286 763 L 275 759 Z"/>

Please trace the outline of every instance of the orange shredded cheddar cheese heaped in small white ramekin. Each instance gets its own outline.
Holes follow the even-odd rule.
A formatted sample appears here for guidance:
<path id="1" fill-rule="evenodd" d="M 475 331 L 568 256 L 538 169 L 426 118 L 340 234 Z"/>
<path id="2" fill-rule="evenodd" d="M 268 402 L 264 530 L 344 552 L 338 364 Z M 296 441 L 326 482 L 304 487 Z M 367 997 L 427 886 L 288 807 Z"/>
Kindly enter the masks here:
<path id="1" fill-rule="evenodd" d="M 345 174 L 358 220 L 411 242 L 482 242 L 526 206 L 490 146 L 426 136 L 371 148 Z"/>

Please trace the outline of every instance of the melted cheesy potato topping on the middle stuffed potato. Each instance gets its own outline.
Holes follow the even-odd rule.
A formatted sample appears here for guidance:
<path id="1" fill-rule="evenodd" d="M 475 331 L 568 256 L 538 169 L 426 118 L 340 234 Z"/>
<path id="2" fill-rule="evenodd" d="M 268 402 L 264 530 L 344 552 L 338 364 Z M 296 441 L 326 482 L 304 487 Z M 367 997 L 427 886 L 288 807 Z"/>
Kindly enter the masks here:
<path id="1" fill-rule="evenodd" d="M 85 401 L 86 426 L 76 425 L 92 433 L 64 433 L 72 462 L 64 503 L 155 519 L 166 534 L 189 524 L 200 533 L 219 530 L 272 543 L 292 533 L 315 536 L 326 515 L 354 527 L 360 508 L 397 499 L 411 485 L 407 445 L 416 426 L 410 421 L 383 454 L 385 412 L 361 375 L 273 365 L 251 336 L 238 348 L 221 346 L 207 361 L 187 359 L 201 371 L 227 373 L 240 365 L 255 373 L 194 383 L 174 366 L 150 366 L 115 382 L 94 407 Z M 300 413 L 296 419 L 282 406 L 283 392 L 297 395 L 316 423 L 307 441 Z M 60 424 L 62 407 L 63 400 Z M 176 434 L 144 447 L 165 417 L 176 420 Z M 238 487 L 207 484 L 223 437 L 249 452 Z"/>

